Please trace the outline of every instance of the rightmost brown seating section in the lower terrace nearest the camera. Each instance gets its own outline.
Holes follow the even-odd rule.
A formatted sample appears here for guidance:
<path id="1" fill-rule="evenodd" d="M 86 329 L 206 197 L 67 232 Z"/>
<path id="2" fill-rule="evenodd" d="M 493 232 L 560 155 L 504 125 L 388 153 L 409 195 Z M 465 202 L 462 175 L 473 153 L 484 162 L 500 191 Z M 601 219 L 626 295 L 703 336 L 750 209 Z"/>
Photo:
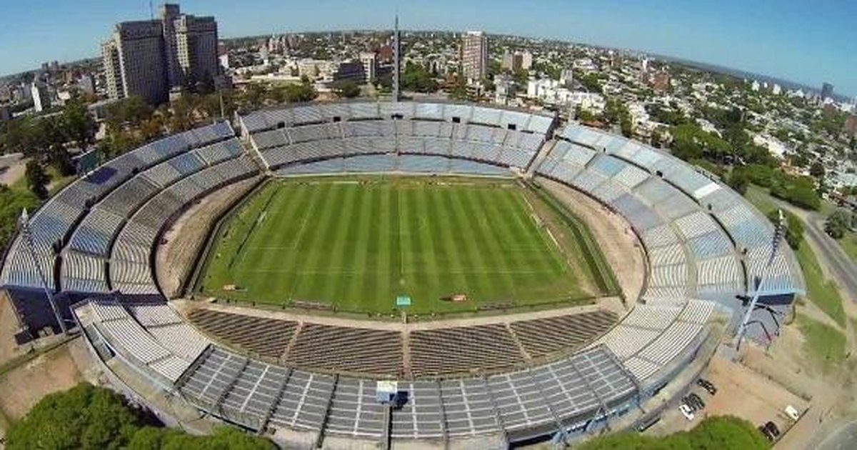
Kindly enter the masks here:
<path id="1" fill-rule="evenodd" d="M 513 321 L 509 327 L 530 357 L 542 357 L 557 351 L 571 351 L 590 343 L 613 327 L 616 319 L 615 313 L 600 310 Z"/>

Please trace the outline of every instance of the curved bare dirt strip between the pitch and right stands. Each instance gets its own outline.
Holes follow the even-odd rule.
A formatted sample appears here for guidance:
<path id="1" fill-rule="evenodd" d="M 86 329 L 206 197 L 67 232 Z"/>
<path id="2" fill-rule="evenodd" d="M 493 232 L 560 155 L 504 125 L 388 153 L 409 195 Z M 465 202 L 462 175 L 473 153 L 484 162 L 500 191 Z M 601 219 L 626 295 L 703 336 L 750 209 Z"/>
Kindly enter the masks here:
<path id="1" fill-rule="evenodd" d="M 589 226 L 613 268 L 625 298 L 630 302 L 636 301 L 643 291 L 646 266 L 643 246 L 631 225 L 619 214 L 577 190 L 545 178 L 537 178 L 536 181 Z"/>

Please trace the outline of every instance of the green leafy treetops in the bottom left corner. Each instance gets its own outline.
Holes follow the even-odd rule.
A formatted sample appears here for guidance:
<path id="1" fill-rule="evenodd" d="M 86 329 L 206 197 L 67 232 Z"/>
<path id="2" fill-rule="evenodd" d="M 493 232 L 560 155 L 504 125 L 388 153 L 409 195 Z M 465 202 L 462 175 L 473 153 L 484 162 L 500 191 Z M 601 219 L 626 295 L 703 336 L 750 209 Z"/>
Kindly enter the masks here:
<path id="1" fill-rule="evenodd" d="M 224 427 L 194 436 L 160 426 L 152 414 L 103 387 L 81 383 L 39 400 L 6 435 L 9 450 L 32 448 L 223 448 L 273 449 L 273 442 Z"/>

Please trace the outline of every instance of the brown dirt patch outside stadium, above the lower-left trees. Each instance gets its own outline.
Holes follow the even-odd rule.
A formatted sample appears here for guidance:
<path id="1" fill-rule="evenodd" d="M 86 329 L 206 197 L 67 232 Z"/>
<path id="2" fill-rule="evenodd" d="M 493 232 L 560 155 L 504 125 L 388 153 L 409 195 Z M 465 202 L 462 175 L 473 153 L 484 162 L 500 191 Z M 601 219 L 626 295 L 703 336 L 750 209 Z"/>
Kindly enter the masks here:
<path id="1" fill-rule="evenodd" d="M 9 419 L 17 420 L 45 395 L 64 391 L 80 381 L 81 372 L 69 353 L 69 345 L 63 345 L 0 379 L 0 409 Z"/>

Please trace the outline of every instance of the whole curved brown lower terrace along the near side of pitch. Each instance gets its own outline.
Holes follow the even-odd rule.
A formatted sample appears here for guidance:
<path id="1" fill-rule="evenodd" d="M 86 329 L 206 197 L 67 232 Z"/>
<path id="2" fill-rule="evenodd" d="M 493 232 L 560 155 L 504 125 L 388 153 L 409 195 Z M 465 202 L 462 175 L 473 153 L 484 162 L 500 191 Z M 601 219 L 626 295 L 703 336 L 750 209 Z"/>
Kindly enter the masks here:
<path id="1" fill-rule="evenodd" d="M 214 309 L 188 319 L 213 339 L 275 363 L 302 369 L 416 377 L 510 368 L 530 357 L 556 356 L 590 344 L 616 315 L 606 310 L 476 327 L 399 331 L 285 321 Z M 407 339 L 407 345 L 405 345 Z M 520 343 L 520 344 L 518 344 Z"/>

